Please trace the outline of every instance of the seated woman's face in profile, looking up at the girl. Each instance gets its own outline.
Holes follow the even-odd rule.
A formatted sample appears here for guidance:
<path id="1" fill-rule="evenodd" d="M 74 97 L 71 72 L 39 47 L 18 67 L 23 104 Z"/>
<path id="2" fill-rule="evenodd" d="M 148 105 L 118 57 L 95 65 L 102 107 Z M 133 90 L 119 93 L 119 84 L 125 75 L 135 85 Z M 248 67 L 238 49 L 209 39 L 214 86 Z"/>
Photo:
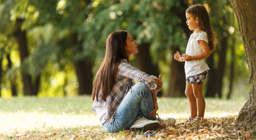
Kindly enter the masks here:
<path id="1" fill-rule="evenodd" d="M 138 53 L 137 41 L 133 40 L 133 37 L 129 33 L 127 33 L 125 50 L 128 58 L 130 58 L 132 54 Z"/>

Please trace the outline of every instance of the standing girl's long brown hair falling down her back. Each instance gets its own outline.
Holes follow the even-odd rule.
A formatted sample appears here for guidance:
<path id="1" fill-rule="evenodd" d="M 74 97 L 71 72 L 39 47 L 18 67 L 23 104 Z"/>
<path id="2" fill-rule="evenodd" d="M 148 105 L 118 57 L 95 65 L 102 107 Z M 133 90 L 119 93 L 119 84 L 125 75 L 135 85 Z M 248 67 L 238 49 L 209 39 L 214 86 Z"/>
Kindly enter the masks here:
<path id="1" fill-rule="evenodd" d="M 207 10 L 203 5 L 191 5 L 186 9 L 186 13 L 192 14 L 194 19 L 198 18 L 198 28 L 207 33 L 208 36 L 208 46 L 210 51 L 213 52 L 216 46 L 216 33 L 210 24 L 210 18 Z"/>

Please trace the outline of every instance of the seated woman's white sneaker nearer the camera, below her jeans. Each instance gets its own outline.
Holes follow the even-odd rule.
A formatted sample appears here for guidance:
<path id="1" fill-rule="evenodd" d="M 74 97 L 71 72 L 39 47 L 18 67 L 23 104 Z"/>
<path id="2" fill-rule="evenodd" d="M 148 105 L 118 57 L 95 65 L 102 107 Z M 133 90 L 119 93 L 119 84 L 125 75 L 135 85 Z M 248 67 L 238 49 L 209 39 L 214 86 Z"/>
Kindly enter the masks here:
<path id="1" fill-rule="evenodd" d="M 156 130 L 159 127 L 159 124 L 159 121 L 153 121 L 142 117 L 141 119 L 134 121 L 133 125 L 130 126 L 130 129 L 139 131 Z"/>

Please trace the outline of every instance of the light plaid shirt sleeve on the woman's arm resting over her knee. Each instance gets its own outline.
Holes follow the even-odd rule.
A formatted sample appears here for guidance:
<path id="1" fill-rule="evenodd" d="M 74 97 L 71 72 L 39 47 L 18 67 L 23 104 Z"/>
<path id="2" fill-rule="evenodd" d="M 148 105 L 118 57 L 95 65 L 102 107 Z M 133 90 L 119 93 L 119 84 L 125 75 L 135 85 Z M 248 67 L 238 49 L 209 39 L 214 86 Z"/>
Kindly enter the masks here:
<path id="1" fill-rule="evenodd" d="M 150 90 L 156 89 L 157 84 L 150 75 L 147 75 L 145 72 L 142 72 L 134 68 L 129 63 L 120 63 L 118 68 L 118 75 L 123 77 L 128 77 L 135 79 L 138 82 L 142 82 L 148 86 Z"/>

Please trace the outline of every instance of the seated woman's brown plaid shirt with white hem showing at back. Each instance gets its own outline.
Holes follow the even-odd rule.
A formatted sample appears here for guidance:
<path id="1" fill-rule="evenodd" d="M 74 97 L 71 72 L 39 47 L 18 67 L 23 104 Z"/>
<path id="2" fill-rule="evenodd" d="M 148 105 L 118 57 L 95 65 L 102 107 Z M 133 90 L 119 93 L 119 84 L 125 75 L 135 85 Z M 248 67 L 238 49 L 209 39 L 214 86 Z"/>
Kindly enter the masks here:
<path id="1" fill-rule="evenodd" d="M 106 98 L 106 102 L 101 100 L 102 90 L 99 91 L 98 101 L 94 98 L 92 110 L 96 111 L 98 107 L 107 107 L 105 120 L 111 124 L 113 117 L 116 113 L 118 106 L 123 100 L 126 93 L 135 84 L 133 79 L 138 82 L 145 83 L 150 90 L 156 89 L 157 84 L 154 79 L 128 63 L 126 59 L 123 59 L 118 66 L 116 80 L 113 89 Z"/>

